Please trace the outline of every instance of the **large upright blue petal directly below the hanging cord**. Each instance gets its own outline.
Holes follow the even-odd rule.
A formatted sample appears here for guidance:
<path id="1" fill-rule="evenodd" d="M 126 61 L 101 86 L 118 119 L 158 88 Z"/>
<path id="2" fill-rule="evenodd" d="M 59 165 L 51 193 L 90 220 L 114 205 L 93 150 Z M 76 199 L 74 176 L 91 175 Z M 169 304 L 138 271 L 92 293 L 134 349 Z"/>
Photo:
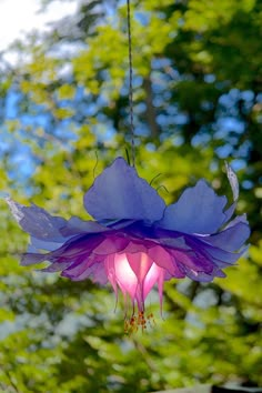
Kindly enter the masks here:
<path id="1" fill-rule="evenodd" d="M 118 158 L 95 180 L 84 195 L 84 206 L 98 221 L 149 220 L 163 215 L 163 200 L 149 183 L 139 178 L 134 168 Z"/>

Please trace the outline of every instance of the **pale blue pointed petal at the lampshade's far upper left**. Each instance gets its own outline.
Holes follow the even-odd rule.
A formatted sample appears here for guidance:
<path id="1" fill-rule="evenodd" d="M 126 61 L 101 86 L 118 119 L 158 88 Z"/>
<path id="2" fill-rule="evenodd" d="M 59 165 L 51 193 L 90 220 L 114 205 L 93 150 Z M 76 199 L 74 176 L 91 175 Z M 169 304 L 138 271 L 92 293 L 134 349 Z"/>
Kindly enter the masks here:
<path id="1" fill-rule="evenodd" d="M 67 221 L 60 216 L 52 216 L 46 210 L 32 206 L 23 206 L 20 203 L 7 198 L 7 202 L 11 212 L 21 228 L 33 238 L 61 242 L 64 241 L 60 233 L 60 229 L 66 225 Z"/>

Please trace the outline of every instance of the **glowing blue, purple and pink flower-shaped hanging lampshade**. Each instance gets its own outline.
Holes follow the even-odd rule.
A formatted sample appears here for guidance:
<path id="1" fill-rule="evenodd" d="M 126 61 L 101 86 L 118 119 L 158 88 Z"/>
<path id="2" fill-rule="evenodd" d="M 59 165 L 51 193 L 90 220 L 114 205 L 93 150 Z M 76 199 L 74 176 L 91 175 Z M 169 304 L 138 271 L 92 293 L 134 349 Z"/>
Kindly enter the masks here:
<path id="1" fill-rule="evenodd" d="M 236 200 L 236 177 L 230 168 L 228 174 Z M 119 290 L 123 293 L 131 330 L 145 326 L 144 302 L 155 284 L 162 308 L 164 281 L 223 278 L 222 270 L 244 252 L 249 224 L 244 215 L 229 221 L 235 201 L 229 208 L 226 202 L 200 180 L 177 203 L 165 206 L 122 158 L 107 168 L 84 195 L 84 208 L 95 221 L 75 216 L 67 221 L 8 199 L 14 218 L 31 235 L 21 264 L 49 261 L 46 272 L 59 271 L 73 281 L 110 282 L 117 296 Z"/>

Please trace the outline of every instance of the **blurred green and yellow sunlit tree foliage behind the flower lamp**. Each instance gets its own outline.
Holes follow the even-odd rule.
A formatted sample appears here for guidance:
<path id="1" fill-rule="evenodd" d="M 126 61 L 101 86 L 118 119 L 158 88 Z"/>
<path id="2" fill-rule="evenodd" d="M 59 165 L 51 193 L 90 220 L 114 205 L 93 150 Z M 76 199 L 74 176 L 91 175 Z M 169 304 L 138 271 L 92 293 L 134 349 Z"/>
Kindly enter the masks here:
<path id="1" fill-rule="evenodd" d="M 230 161 L 238 213 L 252 228 L 250 252 L 226 279 L 165 284 L 164 319 L 152 296 L 155 325 L 127 336 L 109 288 L 19 266 L 28 239 L 0 201 L 4 392 L 262 385 L 262 2 L 131 6 L 138 171 L 148 181 L 161 173 L 153 185 L 167 203 L 202 177 L 231 198 Z M 88 219 L 84 191 L 130 150 L 125 6 L 79 0 L 75 14 L 10 51 L 16 66 L 1 53 L 0 191 Z"/>

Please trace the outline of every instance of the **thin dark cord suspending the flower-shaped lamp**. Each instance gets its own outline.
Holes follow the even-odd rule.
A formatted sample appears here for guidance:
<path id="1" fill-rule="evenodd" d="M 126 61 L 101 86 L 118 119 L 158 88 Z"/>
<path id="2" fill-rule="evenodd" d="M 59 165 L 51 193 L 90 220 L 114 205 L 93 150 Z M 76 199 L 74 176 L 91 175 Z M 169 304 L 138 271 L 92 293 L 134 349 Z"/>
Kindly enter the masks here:
<path id="1" fill-rule="evenodd" d="M 132 151 L 132 165 L 135 164 L 134 153 L 134 124 L 133 124 L 133 56 L 132 56 L 132 29 L 131 29 L 131 12 L 130 0 L 127 0 L 128 7 L 128 37 L 129 37 L 129 111 L 130 111 L 130 128 L 131 128 L 131 151 Z"/>

